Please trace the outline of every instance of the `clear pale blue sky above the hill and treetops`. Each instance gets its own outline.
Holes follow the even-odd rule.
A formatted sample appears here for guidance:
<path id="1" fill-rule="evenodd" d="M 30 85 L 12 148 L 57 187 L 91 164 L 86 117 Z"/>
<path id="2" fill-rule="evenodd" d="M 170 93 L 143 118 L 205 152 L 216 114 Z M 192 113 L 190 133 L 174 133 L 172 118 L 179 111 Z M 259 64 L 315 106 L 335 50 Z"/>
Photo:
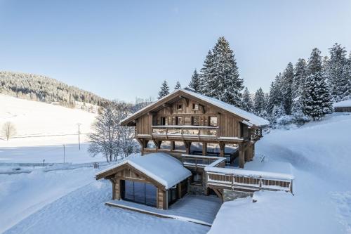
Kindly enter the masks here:
<path id="1" fill-rule="evenodd" d="M 290 61 L 351 49 L 351 1 L 0 0 L 0 70 L 44 74 L 110 99 L 190 82 L 224 36 L 251 92 Z"/>

